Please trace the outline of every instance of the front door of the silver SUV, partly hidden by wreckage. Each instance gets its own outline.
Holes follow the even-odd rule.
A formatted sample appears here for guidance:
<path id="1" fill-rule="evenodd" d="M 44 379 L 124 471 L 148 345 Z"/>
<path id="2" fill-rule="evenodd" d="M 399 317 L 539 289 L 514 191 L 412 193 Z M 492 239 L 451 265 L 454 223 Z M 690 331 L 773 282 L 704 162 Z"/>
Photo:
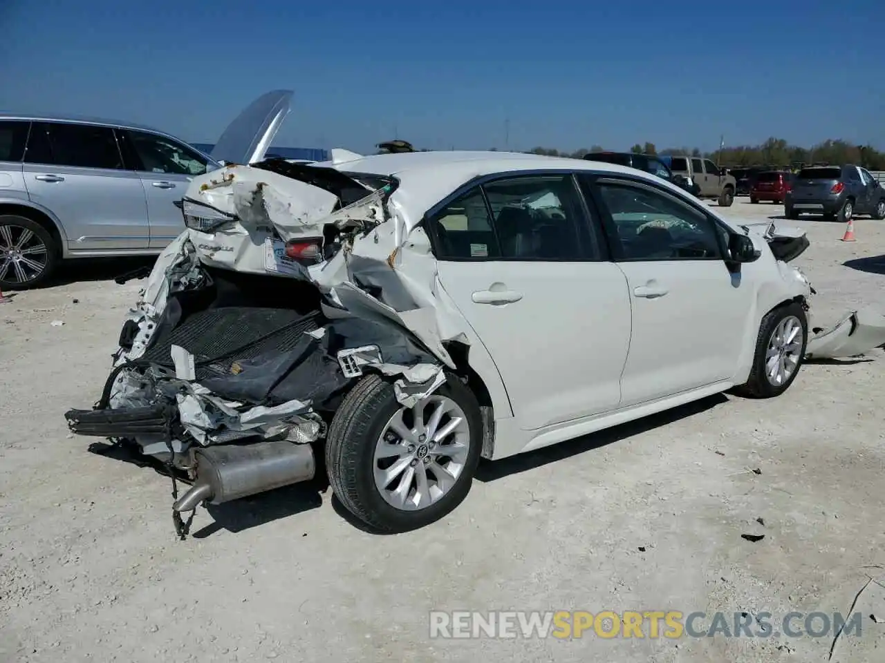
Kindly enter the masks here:
<path id="1" fill-rule="evenodd" d="M 195 175 L 206 171 L 206 158 L 168 136 L 134 129 L 117 134 L 127 166 L 144 187 L 150 222 L 150 247 L 164 248 L 184 230 L 181 201 Z"/>

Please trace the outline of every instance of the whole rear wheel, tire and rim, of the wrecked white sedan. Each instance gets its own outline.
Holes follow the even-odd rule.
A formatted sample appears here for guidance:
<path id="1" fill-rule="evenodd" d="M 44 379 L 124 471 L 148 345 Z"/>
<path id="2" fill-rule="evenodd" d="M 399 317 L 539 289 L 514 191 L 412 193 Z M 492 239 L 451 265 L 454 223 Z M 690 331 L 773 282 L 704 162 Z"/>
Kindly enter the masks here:
<path id="1" fill-rule="evenodd" d="M 329 484 L 370 529 L 415 530 L 466 498 L 481 446 L 479 405 L 456 377 L 407 408 L 389 380 L 369 375 L 344 398 L 329 427 Z"/>

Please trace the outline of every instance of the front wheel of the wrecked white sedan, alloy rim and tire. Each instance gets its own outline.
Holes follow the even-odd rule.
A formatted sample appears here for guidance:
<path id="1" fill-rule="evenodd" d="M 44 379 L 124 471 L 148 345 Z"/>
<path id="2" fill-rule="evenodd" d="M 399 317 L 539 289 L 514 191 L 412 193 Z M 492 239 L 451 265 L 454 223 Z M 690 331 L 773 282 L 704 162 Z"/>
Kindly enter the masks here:
<path id="1" fill-rule="evenodd" d="M 736 392 L 750 398 L 772 398 L 786 392 L 802 366 L 808 319 L 796 302 L 769 311 L 762 318 L 750 377 Z"/>

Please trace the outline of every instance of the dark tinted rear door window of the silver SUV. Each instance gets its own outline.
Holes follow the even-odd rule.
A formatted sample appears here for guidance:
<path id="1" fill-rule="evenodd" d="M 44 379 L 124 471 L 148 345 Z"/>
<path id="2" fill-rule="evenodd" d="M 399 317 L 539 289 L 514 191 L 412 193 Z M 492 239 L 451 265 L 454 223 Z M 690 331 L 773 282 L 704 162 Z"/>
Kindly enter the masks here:
<path id="1" fill-rule="evenodd" d="M 117 139 L 108 126 L 35 122 L 27 141 L 28 164 L 123 170 Z"/>

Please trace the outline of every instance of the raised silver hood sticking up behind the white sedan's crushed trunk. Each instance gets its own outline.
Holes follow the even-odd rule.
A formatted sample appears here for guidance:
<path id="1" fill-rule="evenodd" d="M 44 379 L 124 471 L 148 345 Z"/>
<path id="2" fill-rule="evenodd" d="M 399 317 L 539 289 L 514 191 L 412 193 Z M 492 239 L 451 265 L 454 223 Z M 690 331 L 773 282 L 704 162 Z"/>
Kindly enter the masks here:
<path id="1" fill-rule="evenodd" d="M 224 164 L 252 164 L 264 158 L 286 115 L 292 90 L 272 90 L 250 103 L 212 149 L 212 159 Z"/>

